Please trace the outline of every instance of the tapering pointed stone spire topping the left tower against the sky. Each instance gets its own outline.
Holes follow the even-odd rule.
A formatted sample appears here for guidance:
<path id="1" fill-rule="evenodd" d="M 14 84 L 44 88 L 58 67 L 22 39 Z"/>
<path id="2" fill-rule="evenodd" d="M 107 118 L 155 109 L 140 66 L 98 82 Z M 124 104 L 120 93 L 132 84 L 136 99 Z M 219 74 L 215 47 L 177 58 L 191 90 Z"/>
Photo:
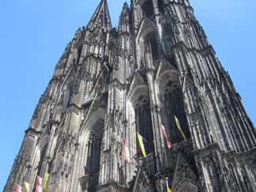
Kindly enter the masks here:
<path id="1" fill-rule="evenodd" d="M 107 0 L 101 0 L 100 5 L 97 7 L 91 20 L 89 21 L 87 28 L 93 30 L 98 26 L 105 28 L 107 31 L 110 31 L 112 28 L 111 19 L 107 7 Z"/>

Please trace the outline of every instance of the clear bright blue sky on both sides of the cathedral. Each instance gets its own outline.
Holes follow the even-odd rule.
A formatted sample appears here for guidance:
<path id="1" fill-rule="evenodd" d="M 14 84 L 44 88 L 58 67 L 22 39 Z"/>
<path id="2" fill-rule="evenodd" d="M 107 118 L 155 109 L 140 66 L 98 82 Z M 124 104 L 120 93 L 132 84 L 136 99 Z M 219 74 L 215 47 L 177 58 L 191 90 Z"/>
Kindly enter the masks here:
<path id="1" fill-rule="evenodd" d="M 0 190 L 6 184 L 36 104 L 78 27 L 86 26 L 97 1 L 0 1 Z M 107 0 L 113 27 L 124 1 Z M 216 56 L 232 77 L 252 122 L 256 1 L 190 0 Z"/>

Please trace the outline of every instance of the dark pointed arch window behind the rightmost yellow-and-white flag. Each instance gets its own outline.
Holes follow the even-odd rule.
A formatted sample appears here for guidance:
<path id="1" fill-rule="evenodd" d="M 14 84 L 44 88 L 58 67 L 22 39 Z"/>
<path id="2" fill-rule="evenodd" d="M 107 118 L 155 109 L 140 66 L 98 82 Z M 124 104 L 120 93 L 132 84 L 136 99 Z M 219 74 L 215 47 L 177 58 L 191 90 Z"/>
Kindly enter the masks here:
<path id="1" fill-rule="evenodd" d="M 167 117 L 168 127 L 170 127 L 171 141 L 183 140 L 183 135 L 176 126 L 174 115 L 179 119 L 180 125 L 186 137 L 190 136 L 186 113 L 183 104 L 183 95 L 178 83 L 169 81 L 164 91 L 164 107 Z"/>

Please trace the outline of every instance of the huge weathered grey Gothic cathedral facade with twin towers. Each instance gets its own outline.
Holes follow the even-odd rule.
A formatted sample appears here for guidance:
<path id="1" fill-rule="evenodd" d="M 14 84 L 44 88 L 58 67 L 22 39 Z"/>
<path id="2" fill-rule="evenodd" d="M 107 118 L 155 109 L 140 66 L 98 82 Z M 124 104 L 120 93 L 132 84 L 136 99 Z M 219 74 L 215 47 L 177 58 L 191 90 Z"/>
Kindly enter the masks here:
<path id="1" fill-rule="evenodd" d="M 101 0 L 56 65 L 4 191 L 46 172 L 49 192 L 256 191 L 255 146 L 188 0 L 131 0 L 118 29 Z"/>

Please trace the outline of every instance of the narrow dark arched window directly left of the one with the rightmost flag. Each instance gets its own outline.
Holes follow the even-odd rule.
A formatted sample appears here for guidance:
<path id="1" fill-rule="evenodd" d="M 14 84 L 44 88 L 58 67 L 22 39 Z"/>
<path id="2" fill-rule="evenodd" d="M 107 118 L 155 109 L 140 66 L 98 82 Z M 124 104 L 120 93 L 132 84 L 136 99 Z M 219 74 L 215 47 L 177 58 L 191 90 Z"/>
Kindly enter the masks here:
<path id="1" fill-rule="evenodd" d="M 145 96 L 140 96 L 137 100 L 135 106 L 135 121 L 136 121 L 136 130 L 146 141 L 143 141 L 145 146 L 145 152 L 153 152 L 152 144 L 152 122 L 151 122 L 151 113 L 149 108 L 149 102 Z M 140 149 L 139 143 L 137 141 L 137 149 Z"/>

